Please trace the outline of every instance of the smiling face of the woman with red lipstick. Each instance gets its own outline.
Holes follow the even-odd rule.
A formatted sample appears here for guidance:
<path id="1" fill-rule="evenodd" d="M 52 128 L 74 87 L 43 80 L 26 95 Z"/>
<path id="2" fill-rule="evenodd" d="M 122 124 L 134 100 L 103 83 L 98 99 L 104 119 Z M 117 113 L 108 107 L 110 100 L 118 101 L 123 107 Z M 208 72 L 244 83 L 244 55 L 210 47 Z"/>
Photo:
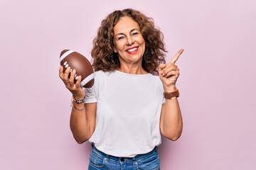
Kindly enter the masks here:
<path id="1" fill-rule="evenodd" d="M 145 42 L 139 24 L 132 18 L 124 16 L 114 26 L 114 52 L 119 55 L 121 67 L 137 65 L 142 67 Z"/>

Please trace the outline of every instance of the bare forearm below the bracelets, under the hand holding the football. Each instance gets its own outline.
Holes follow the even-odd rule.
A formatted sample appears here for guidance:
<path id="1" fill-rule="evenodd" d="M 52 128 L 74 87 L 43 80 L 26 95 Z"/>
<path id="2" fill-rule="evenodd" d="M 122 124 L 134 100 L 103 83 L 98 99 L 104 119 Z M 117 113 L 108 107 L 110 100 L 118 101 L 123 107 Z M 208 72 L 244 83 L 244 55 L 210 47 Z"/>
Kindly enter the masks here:
<path id="1" fill-rule="evenodd" d="M 75 140 L 82 144 L 90 138 L 91 130 L 85 113 L 85 103 L 73 103 L 73 108 L 70 115 L 70 129 Z M 82 109 L 82 111 L 78 109 Z"/>

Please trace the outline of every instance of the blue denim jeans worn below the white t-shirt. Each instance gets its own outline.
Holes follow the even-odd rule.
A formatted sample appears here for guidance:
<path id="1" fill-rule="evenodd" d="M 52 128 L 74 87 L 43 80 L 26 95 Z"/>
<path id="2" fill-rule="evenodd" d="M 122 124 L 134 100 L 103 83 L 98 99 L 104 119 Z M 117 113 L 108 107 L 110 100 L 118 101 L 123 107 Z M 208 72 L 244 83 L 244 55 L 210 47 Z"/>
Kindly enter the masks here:
<path id="1" fill-rule="evenodd" d="M 147 154 L 138 154 L 136 157 L 113 157 L 100 152 L 92 145 L 88 170 L 159 170 L 160 161 L 158 149 L 155 147 Z"/>

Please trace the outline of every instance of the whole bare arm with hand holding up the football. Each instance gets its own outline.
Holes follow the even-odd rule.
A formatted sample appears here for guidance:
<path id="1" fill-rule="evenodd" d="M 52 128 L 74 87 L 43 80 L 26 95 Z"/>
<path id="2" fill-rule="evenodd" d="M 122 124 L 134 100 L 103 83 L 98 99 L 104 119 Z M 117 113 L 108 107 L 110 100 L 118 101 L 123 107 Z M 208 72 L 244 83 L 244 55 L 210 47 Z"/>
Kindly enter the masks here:
<path id="1" fill-rule="evenodd" d="M 63 74 L 63 67 L 60 66 L 59 77 L 63 80 L 66 88 L 73 94 L 75 100 L 84 98 L 85 91 L 80 86 L 81 77 L 74 84 L 75 69 L 70 74 L 70 67 L 65 70 Z M 85 107 L 84 107 L 85 106 Z M 82 144 L 92 136 L 92 132 L 95 130 L 96 120 L 96 103 L 73 103 L 73 108 L 70 115 L 70 129 L 75 137 L 75 140 Z"/>

